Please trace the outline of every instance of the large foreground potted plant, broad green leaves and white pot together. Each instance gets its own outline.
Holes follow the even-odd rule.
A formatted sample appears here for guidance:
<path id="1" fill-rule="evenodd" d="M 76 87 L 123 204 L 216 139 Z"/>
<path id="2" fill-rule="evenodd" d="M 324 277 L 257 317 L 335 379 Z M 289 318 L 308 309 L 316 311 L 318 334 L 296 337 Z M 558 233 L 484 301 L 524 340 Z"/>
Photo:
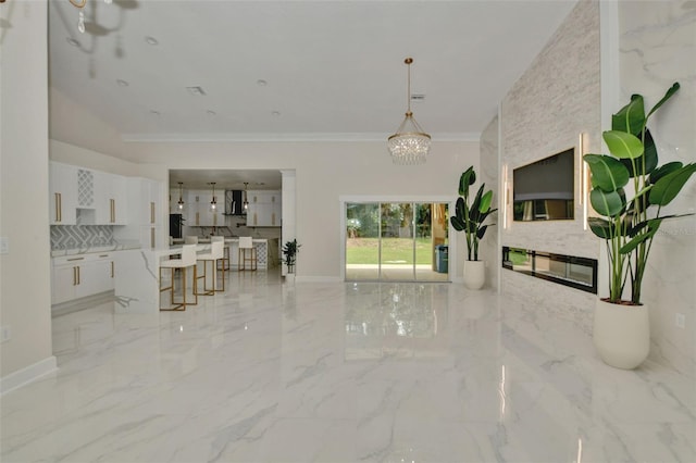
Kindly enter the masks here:
<path id="1" fill-rule="evenodd" d="M 662 215 L 662 208 L 696 172 L 694 163 L 658 166 L 647 128 L 650 115 L 679 88 L 675 83 L 647 115 L 643 97 L 633 95 L 602 134 L 610 154 L 584 155 L 592 172 L 589 201 L 599 214 L 588 225 L 605 240 L 609 260 L 609 296 L 597 301 L 593 338 L 605 363 L 620 368 L 634 368 L 648 355 L 648 308 L 641 295 L 652 239 L 664 220 L 680 216 Z M 624 300 L 629 288 L 631 297 Z"/>

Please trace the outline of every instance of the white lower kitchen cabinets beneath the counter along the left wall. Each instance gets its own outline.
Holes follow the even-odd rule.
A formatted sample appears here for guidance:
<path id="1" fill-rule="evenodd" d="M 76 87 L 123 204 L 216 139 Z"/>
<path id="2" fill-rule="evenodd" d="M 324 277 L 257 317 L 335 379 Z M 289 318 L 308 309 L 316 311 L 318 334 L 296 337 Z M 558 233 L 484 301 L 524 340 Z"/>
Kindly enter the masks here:
<path id="1" fill-rule="evenodd" d="M 113 265 L 112 253 L 53 258 L 51 303 L 112 290 Z"/>

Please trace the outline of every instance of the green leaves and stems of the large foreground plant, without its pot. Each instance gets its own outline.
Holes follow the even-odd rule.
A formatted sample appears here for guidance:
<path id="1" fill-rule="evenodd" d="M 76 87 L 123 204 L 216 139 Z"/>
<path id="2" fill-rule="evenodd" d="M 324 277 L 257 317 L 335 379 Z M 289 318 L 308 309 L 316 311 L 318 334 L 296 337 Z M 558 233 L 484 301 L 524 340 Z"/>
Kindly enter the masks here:
<path id="1" fill-rule="evenodd" d="M 631 303 L 641 304 L 643 277 L 652 239 L 662 221 L 682 215 L 660 215 L 696 172 L 696 164 L 669 162 L 658 166 L 655 141 L 647 128 L 648 118 L 680 88 L 672 85 L 664 97 L 645 114 L 641 95 L 611 118 L 611 130 L 602 134 L 607 154 L 585 154 L 592 172 L 589 200 L 601 217 L 588 218 L 592 232 L 607 243 L 609 258 L 609 298 L 620 302 L 627 280 Z M 632 183 L 632 199 L 624 187 Z M 655 211 L 655 213 L 652 213 Z M 685 214 L 689 215 L 689 214 Z"/>

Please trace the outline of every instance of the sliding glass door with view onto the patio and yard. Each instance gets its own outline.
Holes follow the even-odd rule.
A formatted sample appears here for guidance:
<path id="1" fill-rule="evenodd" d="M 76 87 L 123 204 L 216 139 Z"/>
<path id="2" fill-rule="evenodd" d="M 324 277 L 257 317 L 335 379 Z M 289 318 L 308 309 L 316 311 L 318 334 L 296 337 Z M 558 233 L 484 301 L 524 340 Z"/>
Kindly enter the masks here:
<path id="1" fill-rule="evenodd" d="M 447 204 L 346 203 L 346 280 L 446 281 Z"/>

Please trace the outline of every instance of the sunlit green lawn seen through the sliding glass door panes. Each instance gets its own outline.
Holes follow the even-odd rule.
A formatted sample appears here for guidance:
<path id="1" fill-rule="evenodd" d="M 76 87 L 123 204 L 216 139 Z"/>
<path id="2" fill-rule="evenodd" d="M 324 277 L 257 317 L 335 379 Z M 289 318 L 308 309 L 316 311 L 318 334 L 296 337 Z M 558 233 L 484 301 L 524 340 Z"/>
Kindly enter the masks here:
<path id="1" fill-rule="evenodd" d="M 378 238 L 349 238 L 346 246 L 346 263 L 377 264 Z M 415 263 L 431 265 L 433 251 L 431 238 L 415 238 Z M 413 264 L 413 240 L 411 238 L 382 238 L 382 263 Z"/>

